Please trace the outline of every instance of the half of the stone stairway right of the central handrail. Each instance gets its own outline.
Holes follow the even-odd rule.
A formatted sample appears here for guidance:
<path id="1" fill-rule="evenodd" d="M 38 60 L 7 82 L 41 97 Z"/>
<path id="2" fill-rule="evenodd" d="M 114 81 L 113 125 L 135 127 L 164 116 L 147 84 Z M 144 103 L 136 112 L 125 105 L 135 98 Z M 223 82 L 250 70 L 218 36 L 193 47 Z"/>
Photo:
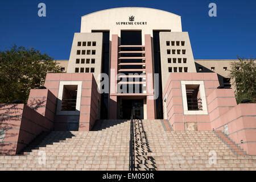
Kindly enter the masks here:
<path id="1" fill-rule="evenodd" d="M 137 170 L 256 170 L 256 156 L 237 155 L 213 131 L 167 131 L 158 120 L 137 120 L 138 126 L 150 152 L 137 155 Z"/>

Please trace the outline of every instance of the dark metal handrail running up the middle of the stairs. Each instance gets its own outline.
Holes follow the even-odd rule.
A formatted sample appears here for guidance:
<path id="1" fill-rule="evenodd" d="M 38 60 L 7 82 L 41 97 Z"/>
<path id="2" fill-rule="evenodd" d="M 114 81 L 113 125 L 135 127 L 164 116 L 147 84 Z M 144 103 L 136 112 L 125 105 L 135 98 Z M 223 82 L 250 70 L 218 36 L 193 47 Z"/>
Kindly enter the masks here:
<path id="1" fill-rule="evenodd" d="M 134 121 L 133 110 L 131 110 L 131 123 L 130 123 L 130 156 L 129 156 L 129 169 L 135 171 L 135 154 L 134 154 Z"/>

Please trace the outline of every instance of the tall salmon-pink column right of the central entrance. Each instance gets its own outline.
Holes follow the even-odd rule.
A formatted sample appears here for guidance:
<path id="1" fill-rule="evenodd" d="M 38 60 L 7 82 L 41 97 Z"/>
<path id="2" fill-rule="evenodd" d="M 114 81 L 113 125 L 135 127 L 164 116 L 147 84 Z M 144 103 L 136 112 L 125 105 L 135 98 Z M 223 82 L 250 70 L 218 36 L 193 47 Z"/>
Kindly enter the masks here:
<path id="1" fill-rule="evenodd" d="M 147 119 L 155 119 L 155 100 L 153 84 L 153 61 L 151 35 L 145 35 L 145 60 L 146 60 L 146 81 L 147 81 Z"/>

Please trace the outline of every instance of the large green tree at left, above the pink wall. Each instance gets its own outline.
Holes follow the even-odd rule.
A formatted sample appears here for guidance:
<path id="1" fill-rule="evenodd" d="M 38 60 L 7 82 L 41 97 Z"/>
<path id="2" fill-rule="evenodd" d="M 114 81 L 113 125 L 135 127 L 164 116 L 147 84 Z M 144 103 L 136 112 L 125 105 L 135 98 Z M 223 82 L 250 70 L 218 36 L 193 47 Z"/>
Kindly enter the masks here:
<path id="1" fill-rule="evenodd" d="M 60 68 L 34 48 L 13 46 L 0 51 L 0 103 L 26 103 L 30 89 L 43 85 L 48 72 L 60 72 Z"/>

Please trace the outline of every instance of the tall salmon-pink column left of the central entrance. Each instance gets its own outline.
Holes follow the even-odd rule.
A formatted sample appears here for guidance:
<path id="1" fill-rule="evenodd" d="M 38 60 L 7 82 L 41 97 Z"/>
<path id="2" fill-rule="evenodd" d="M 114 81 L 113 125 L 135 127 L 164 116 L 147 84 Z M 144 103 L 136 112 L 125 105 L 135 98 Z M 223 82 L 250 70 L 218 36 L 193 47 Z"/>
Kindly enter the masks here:
<path id="1" fill-rule="evenodd" d="M 117 76 L 118 69 L 118 35 L 112 35 L 110 59 L 110 98 L 109 119 L 117 119 Z"/>

